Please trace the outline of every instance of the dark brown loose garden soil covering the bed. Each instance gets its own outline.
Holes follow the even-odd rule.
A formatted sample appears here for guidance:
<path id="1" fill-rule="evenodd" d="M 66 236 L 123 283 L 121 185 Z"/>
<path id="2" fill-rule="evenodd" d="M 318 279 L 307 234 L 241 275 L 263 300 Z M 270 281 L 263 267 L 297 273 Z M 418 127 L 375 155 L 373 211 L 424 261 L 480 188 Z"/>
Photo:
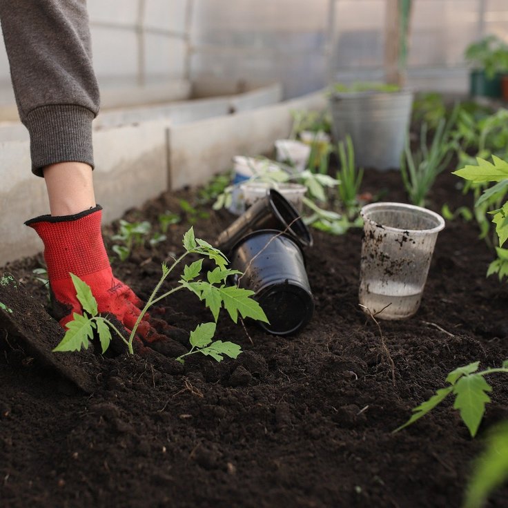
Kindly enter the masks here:
<path id="1" fill-rule="evenodd" d="M 471 206 L 459 183 L 442 175 L 429 208 Z M 399 173 L 369 171 L 362 190 L 405 201 L 401 188 Z M 163 195 L 126 218 L 155 220 L 179 211 L 182 197 L 190 193 Z M 211 213 L 194 224 L 196 236 L 213 242 L 232 218 Z M 146 298 L 187 228 L 171 226 L 164 244 L 116 262 L 117 277 Z M 508 286 L 485 278 L 491 252 L 475 224 L 447 222 L 420 310 L 380 321 L 381 336 L 358 306 L 361 232 L 313 236 L 310 324 L 277 337 L 222 315 L 217 338 L 241 344 L 237 360 L 193 355 L 182 366 L 155 353 L 94 357 L 97 372 L 84 393 L 0 323 L 0 506 L 460 507 L 482 438 L 508 419 L 506 378 L 489 379 L 492 402 L 475 439 L 451 400 L 391 431 L 444 387 L 452 369 L 476 360 L 499 367 L 508 358 Z M 40 262 L 5 267 L 35 298 L 27 309 L 46 302 L 32 274 Z M 211 320 L 190 293 L 167 305 L 166 318 L 183 329 Z M 508 507 L 508 488 L 489 506 Z"/>

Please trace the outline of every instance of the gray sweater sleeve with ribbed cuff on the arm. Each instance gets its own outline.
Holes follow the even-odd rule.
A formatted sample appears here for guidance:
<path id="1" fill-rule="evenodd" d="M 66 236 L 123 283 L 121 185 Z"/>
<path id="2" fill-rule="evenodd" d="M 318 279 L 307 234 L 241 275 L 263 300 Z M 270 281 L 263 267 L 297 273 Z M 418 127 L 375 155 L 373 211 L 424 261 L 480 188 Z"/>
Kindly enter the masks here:
<path id="1" fill-rule="evenodd" d="M 99 87 L 86 0 L 0 0 L 0 20 L 32 171 L 66 161 L 93 167 Z"/>

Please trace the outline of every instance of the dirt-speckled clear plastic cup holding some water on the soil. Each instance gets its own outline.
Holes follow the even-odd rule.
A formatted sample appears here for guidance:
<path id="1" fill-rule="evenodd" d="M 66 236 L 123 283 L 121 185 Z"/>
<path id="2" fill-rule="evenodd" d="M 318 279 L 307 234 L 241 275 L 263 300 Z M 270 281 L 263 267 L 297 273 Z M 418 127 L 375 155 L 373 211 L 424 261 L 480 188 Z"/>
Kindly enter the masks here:
<path id="1" fill-rule="evenodd" d="M 383 320 L 402 320 L 420 307 L 438 233 L 444 219 L 404 203 L 373 203 L 364 219 L 360 304 Z"/>

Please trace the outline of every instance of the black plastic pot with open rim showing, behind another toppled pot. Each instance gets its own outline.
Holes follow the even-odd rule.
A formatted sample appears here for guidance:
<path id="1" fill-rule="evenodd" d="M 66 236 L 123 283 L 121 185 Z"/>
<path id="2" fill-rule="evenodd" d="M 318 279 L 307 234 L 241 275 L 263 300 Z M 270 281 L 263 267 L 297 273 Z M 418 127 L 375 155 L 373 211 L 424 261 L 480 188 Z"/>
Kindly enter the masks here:
<path id="1" fill-rule="evenodd" d="M 265 197 L 248 208 L 217 237 L 215 246 L 229 256 L 235 245 L 248 233 L 276 229 L 291 235 L 302 247 L 312 246 L 312 235 L 296 208 L 277 190 L 270 189 Z"/>

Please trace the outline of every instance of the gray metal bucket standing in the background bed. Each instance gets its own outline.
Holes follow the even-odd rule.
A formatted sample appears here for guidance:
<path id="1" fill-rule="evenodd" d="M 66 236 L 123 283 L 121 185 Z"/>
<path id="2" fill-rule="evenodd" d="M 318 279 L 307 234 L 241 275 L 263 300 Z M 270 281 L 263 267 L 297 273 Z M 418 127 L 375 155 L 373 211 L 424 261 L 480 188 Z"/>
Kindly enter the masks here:
<path id="1" fill-rule="evenodd" d="M 386 170 L 400 168 L 409 128 L 413 92 L 333 92 L 330 95 L 335 141 L 351 136 L 356 165 Z"/>

